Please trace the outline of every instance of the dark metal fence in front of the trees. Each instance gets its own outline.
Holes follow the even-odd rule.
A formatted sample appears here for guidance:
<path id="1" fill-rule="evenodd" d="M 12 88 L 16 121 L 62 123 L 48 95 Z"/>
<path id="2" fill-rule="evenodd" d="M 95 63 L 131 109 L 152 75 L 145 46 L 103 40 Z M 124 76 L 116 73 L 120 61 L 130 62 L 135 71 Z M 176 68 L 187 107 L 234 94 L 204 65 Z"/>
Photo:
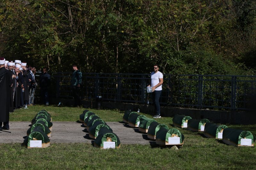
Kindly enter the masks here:
<path id="1" fill-rule="evenodd" d="M 52 74 L 51 95 L 72 98 L 72 73 Z M 84 100 L 147 104 L 149 74 L 83 73 L 81 96 Z M 255 99 L 256 76 L 164 75 L 161 106 L 216 108 L 219 110 L 251 110 Z"/>

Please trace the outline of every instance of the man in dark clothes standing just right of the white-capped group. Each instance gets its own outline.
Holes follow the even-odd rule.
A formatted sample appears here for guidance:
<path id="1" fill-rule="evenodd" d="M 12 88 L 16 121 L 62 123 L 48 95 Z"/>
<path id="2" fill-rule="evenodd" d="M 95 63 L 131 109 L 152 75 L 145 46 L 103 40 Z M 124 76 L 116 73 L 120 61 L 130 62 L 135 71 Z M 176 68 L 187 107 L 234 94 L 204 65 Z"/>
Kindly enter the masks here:
<path id="1" fill-rule="evenodd" d="M 41 90 L 41 96 L 44 99 L 44 103 L 46 106 L 49 105 L 49 95 L 48 90 L 51 85 L 51 75 L 47 73 L 47 69 L 43 68 L 43 74 L 40 77 L 40 90 Z"/>

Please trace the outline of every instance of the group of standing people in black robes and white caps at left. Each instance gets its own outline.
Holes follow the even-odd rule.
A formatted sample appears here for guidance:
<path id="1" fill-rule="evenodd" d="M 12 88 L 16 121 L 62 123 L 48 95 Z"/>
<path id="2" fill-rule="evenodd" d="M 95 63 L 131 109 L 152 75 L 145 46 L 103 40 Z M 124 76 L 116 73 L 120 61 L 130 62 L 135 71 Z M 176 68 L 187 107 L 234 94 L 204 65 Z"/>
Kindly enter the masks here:
<path id="1" fill-rule="evenodd" d="M 0 130 L 9 130 L 9 113 L 33 105 L 36 89 L 35 67 L 20 60 L 0 58 Z M 3 127 L 2 127 L 3 124 Z"/>

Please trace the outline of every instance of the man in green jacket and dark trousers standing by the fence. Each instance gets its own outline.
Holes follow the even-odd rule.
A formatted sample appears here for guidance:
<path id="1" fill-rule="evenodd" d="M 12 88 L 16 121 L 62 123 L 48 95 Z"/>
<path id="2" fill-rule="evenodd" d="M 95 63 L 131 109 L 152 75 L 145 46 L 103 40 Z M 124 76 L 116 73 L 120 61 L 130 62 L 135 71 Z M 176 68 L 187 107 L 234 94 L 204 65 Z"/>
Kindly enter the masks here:
<path id="1" fill-rule="evenodd" d="M 73 65 L 73 70 L 75 71 L 72 74 L 71 86 L 75 100 L 74 107 L 77 107 L 81 105 L 80 86 L 82 82 L 82 72 L 78 70 L 76 64 Z"/>

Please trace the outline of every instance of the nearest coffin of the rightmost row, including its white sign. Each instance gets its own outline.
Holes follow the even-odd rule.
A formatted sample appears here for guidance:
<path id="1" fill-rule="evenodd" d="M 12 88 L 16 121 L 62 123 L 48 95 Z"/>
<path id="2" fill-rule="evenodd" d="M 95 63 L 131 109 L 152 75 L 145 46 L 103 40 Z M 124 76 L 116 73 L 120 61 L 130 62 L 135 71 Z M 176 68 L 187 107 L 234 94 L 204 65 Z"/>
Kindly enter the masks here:
<path id="1" fill-rule="evenodd" d="M 247 142 L 244 143 L 244 140 L 247 140 Z M 255 136 L 250 131 L 225 128 L 223 130 L 222 141 L 234 146 L 254 146 Z"/>

